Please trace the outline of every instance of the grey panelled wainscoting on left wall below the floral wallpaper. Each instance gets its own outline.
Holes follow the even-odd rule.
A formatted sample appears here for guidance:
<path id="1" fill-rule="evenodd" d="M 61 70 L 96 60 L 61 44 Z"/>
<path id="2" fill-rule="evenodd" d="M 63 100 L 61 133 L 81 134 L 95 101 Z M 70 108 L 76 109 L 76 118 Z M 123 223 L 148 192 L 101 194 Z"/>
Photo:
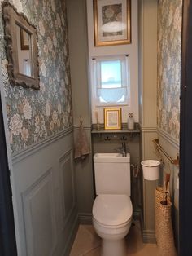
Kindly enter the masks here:
<path id="1" fill-rule="evenodd" d="M 20 256 L 68 255 L 78 227 L 72 128 L 13 156 Z"/>

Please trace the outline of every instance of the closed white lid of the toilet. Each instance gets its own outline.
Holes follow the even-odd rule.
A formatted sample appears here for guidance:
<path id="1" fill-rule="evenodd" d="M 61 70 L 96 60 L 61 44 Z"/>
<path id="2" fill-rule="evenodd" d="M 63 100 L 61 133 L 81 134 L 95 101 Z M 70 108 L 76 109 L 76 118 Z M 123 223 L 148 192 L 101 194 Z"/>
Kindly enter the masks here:
<path id="1" fill-rule="evenodd" d="M 93 206 L 93 216 L 105 225 L 120 225 L 132 217 L 133 207 L 127 195 L 98 195 Z"/>

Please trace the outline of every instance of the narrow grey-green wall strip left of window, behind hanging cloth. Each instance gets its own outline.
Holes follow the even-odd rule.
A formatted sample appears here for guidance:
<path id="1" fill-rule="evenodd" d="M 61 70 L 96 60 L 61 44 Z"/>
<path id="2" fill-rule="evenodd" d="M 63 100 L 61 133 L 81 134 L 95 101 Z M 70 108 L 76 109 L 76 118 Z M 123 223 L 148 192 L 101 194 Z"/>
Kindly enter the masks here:
<path id="1" fill-rule="evenodd" d="M 91 148 L 88 46 L 86 30 L 86 7 L 84 0 L 67 0 L 69 55 L 72 81 L 72 106 L 74 120 L 74 140 L 83 120 L 85 132 Z M 84 161 L 75 161 L 76 192 L 81 223 L 91 222 L 94 202 L 94 182 L 92 153 Z"/>

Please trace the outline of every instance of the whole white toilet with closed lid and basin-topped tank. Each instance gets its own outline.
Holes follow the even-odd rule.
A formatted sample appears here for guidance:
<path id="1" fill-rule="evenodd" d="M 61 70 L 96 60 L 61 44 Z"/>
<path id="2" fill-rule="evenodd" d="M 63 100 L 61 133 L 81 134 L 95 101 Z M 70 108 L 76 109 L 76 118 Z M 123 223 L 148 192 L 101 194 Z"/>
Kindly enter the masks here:
<path id="1" fill-rule="evenodd" d="M 124 256 L 124 236 L 132 223 L 130 200 L 130 155 L 97 153 L 94 155 L 97 197 L 93 205 L 93 225 L 102 238 L 103 256 Z"/>

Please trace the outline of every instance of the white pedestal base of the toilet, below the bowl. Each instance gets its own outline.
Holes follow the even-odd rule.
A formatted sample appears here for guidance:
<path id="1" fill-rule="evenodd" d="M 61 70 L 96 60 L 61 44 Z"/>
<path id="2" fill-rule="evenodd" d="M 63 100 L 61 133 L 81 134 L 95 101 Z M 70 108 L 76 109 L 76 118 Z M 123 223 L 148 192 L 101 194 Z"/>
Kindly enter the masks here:
<path id="1" fill-rule="evenodd" d="M 102 240 L 102 256 L 125 256 L 126 255 L 126 245 L 125 240 Z"/>

